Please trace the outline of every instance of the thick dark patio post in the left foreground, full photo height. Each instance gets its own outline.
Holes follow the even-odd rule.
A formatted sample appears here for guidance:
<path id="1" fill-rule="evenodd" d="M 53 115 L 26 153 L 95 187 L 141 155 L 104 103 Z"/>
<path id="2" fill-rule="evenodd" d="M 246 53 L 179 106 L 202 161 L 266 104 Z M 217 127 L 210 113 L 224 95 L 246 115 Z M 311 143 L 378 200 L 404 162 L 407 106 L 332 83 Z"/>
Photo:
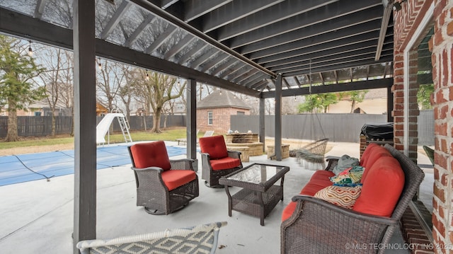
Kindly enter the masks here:
<path id="1" fill-rule="evenodd" d="M 74 253 L 96 239 L 95 1 L 74 0 Z"/>

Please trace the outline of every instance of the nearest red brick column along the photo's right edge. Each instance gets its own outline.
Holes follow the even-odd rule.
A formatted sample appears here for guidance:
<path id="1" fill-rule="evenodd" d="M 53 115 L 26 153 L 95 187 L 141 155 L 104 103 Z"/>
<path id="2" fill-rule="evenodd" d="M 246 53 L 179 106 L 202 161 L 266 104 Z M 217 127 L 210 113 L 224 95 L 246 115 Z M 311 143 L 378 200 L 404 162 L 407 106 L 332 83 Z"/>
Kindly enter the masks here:
<path id="1" fill-rule="evenodd" d="M 453 253 L 453 0 L 435 1 L 432 47 L 435 115 L 435 182 L 432 212 L 434 241 Z"/>

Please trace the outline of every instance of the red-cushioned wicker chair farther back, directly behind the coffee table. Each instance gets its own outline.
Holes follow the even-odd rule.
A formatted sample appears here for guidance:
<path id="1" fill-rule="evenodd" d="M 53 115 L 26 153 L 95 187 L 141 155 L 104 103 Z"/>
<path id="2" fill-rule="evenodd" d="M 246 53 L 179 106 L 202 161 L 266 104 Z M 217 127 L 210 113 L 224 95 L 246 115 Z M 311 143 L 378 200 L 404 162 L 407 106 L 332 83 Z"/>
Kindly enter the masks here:
<path id="1" fill-rule="evenodd" d="M 219 178 L 242 168 L 241 152 L 226 150 L 222 135 L 200 137 L 202 179 L 208 187 L 223 187 Z"/>

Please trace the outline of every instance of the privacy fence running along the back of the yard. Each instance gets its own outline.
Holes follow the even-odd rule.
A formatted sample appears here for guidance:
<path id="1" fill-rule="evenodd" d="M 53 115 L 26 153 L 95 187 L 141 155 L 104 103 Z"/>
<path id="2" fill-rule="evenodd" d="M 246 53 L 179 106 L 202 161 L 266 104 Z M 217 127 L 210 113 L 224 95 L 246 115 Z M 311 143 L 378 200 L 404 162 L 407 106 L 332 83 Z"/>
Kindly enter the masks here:
<path id="1" fill-rule="evenodd" d="M 367 114 L 317 114 L 311 115 L 282 115 L 282 137 L 289 139 L 317 139 L 325 136 L 332 142 L 359 142 L 360 131 L 365 123 L 386 122 L 386 115 Z M 70 134 L 72 117 L 55 117 L 56 133 Z M 100 122 L 102 117 L 98 117 Z M 318 122 L 319 119 L 319 122 Z M 258 132 L 258 115 L 231 115 L 231 129 L 239 132 L 251 130 Z M 274 137 L 275 117 L 265 116 L 265 135 Z M 131 116 L 130 130 L 144 130 L 152 127 L 151 116 Z M 185 115 L 163 115 L 161 127 L 185 127 Z M 321 132 L 321 126 L 324 135 Z M 8 117 L 0 117 L 0 138 L 6 137 Z M 120 126 L 113 121 L 113 132 L 120 132 Z M 18 117 L 18 135 L 47 136 L 52 134 L 52 117 Z M 418 116 L 418 144 L 432 146 L 434 144 L 434 115 L 432 110 L 420 110 Z"/>

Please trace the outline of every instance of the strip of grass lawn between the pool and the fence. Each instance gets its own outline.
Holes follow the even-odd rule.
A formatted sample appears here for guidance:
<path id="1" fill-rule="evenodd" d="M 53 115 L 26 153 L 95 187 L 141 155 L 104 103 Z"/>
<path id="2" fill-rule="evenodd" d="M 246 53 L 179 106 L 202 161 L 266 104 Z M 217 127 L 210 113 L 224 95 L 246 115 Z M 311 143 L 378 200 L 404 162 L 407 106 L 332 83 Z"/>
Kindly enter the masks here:
<path id="1" fill-rule="evenodd" d="M 198 134 L 202 137 L 203 133 Z M 163 129 L 162 133 L 150 133 L 150 132 L 131 132 L 130 136 L 133 141 L 144 141 L 144 140 L 166 140 L 175 141 L 176 139 L 185 138 L 186 132 L 185 127 Z M 21 141 L 18 142 L 0 142 L 0 149 L 12 149 L 17 147 L 28 147 L 28 146 L 51 146 L 56 144 L 74 144 L 74 137 L 21 137 Z M 105 140 L 108 140 L 105 137 Z M 110 144 L 125 142 L 122 133 L 110 134 Z"/>

